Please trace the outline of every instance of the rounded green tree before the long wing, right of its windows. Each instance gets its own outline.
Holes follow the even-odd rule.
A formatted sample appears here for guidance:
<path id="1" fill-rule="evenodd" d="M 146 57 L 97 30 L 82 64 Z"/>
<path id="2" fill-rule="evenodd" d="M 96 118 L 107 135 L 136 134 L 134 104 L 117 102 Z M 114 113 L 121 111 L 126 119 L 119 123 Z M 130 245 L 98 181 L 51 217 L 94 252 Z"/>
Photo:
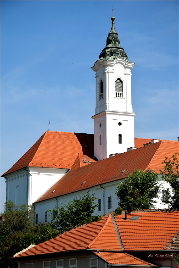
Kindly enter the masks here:
<path id="1" fill-rule="evenodd" d="M 122 210 L 153 208 L 157 202 L 155 199 L 159 197 L 160 187 L 161 183 L 155 172 L 150 169 L 145 172 L 136 169 L 117 186 L 116 195 L 120 208 L 116 209 L 116 213 Z"/>

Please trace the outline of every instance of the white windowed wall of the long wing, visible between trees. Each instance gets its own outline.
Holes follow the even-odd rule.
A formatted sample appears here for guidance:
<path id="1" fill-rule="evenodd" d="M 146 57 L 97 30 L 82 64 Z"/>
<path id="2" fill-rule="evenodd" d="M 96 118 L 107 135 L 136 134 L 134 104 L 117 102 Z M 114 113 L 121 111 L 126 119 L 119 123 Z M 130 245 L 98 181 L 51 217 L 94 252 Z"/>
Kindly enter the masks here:
<path id="1" fill-rule="evenodd" d="M 95 208 L 94 214 L 97 213 L 97 215 L 103 215 L 104 213 L 107 214 L 113 210 L 115 210 L 118 207 L 118 199 L 116 198 L 116 186 L 121 183 L 123 180 L 120 181 L 111 181 L 109 183 L 101 184 L 101 186 L 104 188 L 104 196 L 105 196 L 105 210 L 103 206 L 103 188 L 100 187 L 100 185 L 96 185 L 95 187 L 92 187 L 90 189 L 84 189 L 78 192 L 72 192 L 68 193 L 66 195 L 58 196 L 55 198 L 43 200 L 37 203 L 34 203 L 35 206 L 35 213 L 38 214 L 38 221 L 44 221 L 45 217 L 45 211 L 55 209 L 55 205 L 58 207 L 64 207 L 63 204 L 67 204 L 68 201 L 72 201 L 73 198 L 77 196 L 77 199 L 79 199 L 79 195 L 83 196 L 82 193 L 87 193 L 88 190 L 90 195 L 95 194 L 96 204 L 98 204 L 98 199 L 101 199 L 101 211 L 98 211 L 98 207 Z M 169 184 L 165 181 L 162 181 L 162 189 L 170 188 Z M 161 197 L 162 197 L 162 189 L 160 191 L 160 197 L 157 199 L 157 203 L 155 203 L 155 207 L 157 209 L 164 209 L 167 208 L 166 204 L 161 203 Z M 108 198 L 111 196 L 111 208 L 108 208 Z M 63 203 L 63 204 L 61 204 Z M 49 216 L 50 212 L 47 212 L 47 221 L 51 222 L 51 217 Z"/>

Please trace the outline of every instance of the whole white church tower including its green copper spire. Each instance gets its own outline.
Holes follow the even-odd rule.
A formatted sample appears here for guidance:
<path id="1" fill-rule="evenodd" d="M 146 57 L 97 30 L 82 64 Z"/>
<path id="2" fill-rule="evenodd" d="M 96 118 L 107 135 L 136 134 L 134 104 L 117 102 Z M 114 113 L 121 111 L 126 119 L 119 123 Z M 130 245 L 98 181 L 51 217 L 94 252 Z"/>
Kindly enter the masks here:
<path id="1" fill-rule="evenodd" d="M 96 72 L 94 155 L 107 158 L 134 147 L 134 116 L 131 103 L 131 68 L 118 33 L 112 27 L 106 47 L 92 69 Z"/>

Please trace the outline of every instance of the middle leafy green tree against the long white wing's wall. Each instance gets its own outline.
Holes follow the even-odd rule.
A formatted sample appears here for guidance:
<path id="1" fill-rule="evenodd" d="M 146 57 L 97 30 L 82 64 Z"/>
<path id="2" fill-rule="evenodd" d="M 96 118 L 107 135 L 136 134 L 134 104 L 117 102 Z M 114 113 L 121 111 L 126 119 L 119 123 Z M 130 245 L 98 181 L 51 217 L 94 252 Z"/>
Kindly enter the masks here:
<path id="1" fill-rule="evenodd" d="M 74 198 L 73 201 L 69 201 L 64 207 L 56 207 L 51 211 L 51 224 L 54 228 L 59 228 L 61 231 L 67 231 L 74 228 L 77 225 L 91 223 L 93 221 L 99 221 L 97 215 L 92 215 L 95 207 L 98 205 L 95 203 L 95 196 L 87 193 L 82 193 L 83 197 L 79 199 Z"/>

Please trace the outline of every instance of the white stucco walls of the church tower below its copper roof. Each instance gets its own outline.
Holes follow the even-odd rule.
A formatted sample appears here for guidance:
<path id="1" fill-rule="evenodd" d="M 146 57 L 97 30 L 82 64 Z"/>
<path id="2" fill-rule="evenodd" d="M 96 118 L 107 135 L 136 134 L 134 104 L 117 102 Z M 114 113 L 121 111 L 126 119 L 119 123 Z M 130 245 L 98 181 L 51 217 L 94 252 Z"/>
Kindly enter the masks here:
<path id="1" fill-rule="evenodd" d="M 92 69 L 96 72 L 96 109 L 94 119 L 94 155 L 97 159 L 122 153 L 134 147 L 134 116 L 131 103 L 131 68 L 133 63 L 120 58 L 114 61 L 99 60 Z M 123 97 L 115 96 L 115 81 L 123 83 Z M 100 83 L 103 81 L 103 98 Z M 121 122 L 121 126 L 118 125 Z M 100 126 L 101 124 L 101 126 Z M 122 135 L 122 144 L 118 135 Z M 102 143 L 100 144 L 100 136 Z"/>

